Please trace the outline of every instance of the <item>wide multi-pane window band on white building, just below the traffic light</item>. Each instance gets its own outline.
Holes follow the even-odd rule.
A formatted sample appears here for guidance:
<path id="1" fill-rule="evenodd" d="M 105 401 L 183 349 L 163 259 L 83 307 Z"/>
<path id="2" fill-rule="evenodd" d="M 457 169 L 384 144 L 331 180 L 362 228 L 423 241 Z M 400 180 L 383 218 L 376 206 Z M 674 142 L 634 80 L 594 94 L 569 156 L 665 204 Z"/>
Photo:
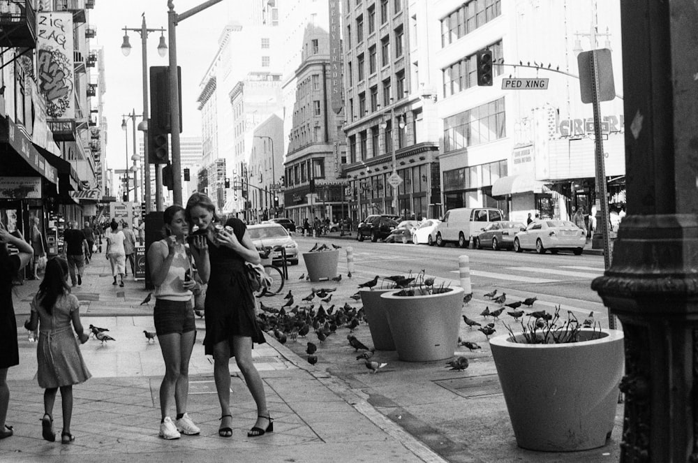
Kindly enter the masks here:
<path id="1" fill-rule="evenodd" d="M 444 152 L 506 136 L 504 98 L 443 119 Z"/>

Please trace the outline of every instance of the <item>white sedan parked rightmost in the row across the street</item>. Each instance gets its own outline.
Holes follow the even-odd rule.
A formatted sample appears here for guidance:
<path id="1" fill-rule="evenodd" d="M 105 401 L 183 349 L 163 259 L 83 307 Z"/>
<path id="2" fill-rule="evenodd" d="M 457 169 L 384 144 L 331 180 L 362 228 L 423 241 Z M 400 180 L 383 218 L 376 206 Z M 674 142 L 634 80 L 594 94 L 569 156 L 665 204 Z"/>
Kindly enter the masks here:
<path id="1" fill-rule="evenodd" d="M 535 249 L 539 254 L 547 249 L 555 254 L 559 249 L 571 249 L 575 255 L 584 251 L 586 232 L 567 220 L 537 220 L 514 237 L 514 251 Z"/>

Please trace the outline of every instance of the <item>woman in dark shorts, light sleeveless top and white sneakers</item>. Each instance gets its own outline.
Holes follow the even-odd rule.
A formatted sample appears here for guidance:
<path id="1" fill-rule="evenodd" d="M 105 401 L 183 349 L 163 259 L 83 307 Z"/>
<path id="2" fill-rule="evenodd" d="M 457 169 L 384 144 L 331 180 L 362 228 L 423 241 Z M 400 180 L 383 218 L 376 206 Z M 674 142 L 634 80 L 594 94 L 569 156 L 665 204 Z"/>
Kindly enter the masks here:
<path id="1" fill-rule="evenodd" d="M 165 376 L 160 385 L 160 436 L 179 439 L 180 433 L 199 434 L 200 429 L 186 413 L 189 391 L 189 359 L 196 339 L 193 291 L 195 280 L 191 259 L 202 282 L 208 277 L 209 260 L 206 238 L 193 237 L 192 246 L 184 236 L 188 225 L 184 207 L 173 205 L 163 212 L 165 239 L 156 241 L 148 249 L 148 266 L 155 286 L 155 331 L 165 360 Z M 190 251 L 191 249 L 191 251 Z M 170 418 L 172 397 L 177 408 L 176 421 Z"/>

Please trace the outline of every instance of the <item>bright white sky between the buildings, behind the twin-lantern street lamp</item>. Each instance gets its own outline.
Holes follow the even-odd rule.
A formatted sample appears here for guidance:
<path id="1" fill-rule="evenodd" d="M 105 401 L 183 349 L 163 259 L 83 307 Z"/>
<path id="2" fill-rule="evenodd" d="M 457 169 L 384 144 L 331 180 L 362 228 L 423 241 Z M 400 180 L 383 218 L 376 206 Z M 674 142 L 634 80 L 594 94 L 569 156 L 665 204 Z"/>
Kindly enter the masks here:
<path id="1" fill-rule="evenodd" d="M 211 60 L 218 51 L 218 37 L 239 0 L 223 0 L 216 3 L 177 25 L 177 65 L 181 68 L 181 114 L 182 135 L 201 135 L 201 115 L 196 102 L 200 93 L 200 82 Z M 174 0 L 174 11 L 181 14 L 205 0 Z M 140 34 L 129 31 L 131 54 L 124 57 L 121 43 L 124 41 L 124 27 L 140 29 L 142 13 L 148 29 L 165 29 L 165 41 L 168 43 L 168 1 L 167 0 L 103 0 L 96 1 L 95 8 L 89 10 L 89 24 L 97 31 L 96 37 L 90 39 L 90 47 L 103 47 L 105 56 L 106 93 L 103 95 L 104 112 L 107 118 L 107 168 L 123 169 L 131 166 L 133 156 L 133 131 L 131 119 L 128 119 L 128 135 L 121 129 L 122 115 L 142 114 L 142 41 Z M 161 58 L 158 54 L 160 32 L 148 34 L 148 66 L 168 66 L 168 54 Z M 96 68 L 90 68 L 96 69 Z M 93 75 L 91 82 L 96 82 Z M 136 118 L 136 125 L 140 122 Z M 140 140 L 141 132 L 137 135 Z M 128 154 L 125 154 L 126 136 L 128 136 Z M 137 141 L 137 145 L 140 142 Z"/>

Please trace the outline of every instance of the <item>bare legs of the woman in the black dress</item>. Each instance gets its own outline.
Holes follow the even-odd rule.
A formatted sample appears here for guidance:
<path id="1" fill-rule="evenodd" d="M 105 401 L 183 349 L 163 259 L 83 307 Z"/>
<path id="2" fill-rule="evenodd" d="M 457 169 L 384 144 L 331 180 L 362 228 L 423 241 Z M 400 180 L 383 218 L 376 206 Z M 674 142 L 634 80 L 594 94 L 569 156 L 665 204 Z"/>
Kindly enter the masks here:
<path id="1" fill-rule="evenodd" d="M 259 372 L 252 362 L 252 338 L 234 336 L 232 349 L 235 353 L 235 361 L 242 372 L 255 404 L 257 404 L 258 416 L 269 416 L 267 409 L 267 397 L 264 383 Z M 214 346 L 214 380 L 218 392 L 218 402 L 221 404 L 221 416 L 230 415 L 230 346 L 228 341 L 221 341 Z M 230 424 L 230 422 L 228 422 Z M 269 425 L 267 418 L 257 418 L 256 427 L 266 429 Z M 223 426 L 223 423 L 221 423 Z"/>

